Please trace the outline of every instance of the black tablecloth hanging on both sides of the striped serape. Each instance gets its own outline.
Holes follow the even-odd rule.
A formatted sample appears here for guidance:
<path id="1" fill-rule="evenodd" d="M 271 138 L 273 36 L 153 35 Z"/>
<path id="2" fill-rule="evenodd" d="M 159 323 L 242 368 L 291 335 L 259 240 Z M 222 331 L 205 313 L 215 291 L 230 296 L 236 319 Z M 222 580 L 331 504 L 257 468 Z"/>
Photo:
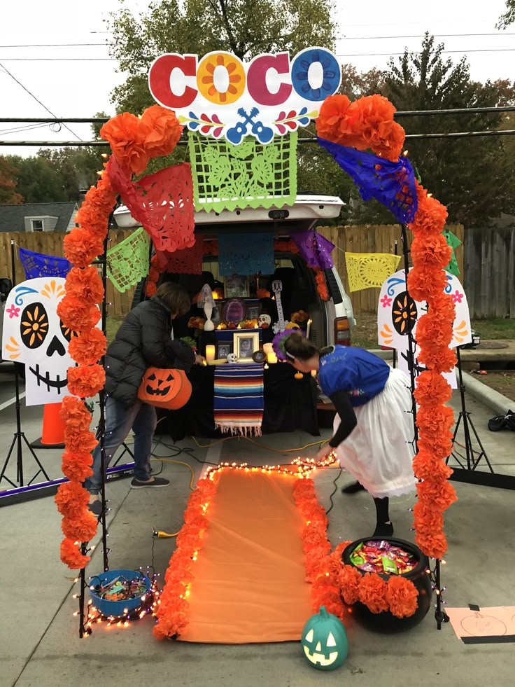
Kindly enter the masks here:
<path id="1" fill-rule="evenodd" d="M 227 363 L 226 363 L 227 364 Z M 316 383 L 311 375 L 296 380 L 295 370 L 276 363 L 263 371 L 264 413 L 262 432 L 290 432 L 302 429 L 320 436 L 316 411 Z M 213 418 L 215 367 L 195 366 L 188 377 L 192 384 L 190 401 L 180 410 L 157 410 L 160 419 L 156 433 L 169 434 L 174 441 L 185 436 L 217 438 Z"/>

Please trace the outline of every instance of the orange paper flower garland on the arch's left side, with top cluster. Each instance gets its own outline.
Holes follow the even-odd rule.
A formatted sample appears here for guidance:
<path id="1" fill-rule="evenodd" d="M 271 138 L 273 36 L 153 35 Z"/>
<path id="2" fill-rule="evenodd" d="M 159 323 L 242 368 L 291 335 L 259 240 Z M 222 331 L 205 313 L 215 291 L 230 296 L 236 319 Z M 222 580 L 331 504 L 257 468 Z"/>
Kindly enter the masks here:
<path id="1" fill-rule="evenodd" d="M 141 174 L 150 158 L 169 155 L 181 137 L 182 127 L 175 114 L 155 105 L 141 118 L 124 113 L 109 120 L 100 131 L 127 174 Z M 76 214 L 80 227 L 64 238 L 64 256 L 73 265 L 66 277 L 66 295 L 57 307 L 62 323 L 71 332 L 69 354 L 78 367 L 68 370 L 68 389 L 75 396 L 65 396 L 61 417 L 65 423 L 65 452 L 62 471 L 68 483 L 59 486 L 55 502 L 63 515 L 61 560 L 71 569 L 85 567 L 90 557 L 80 550 L 81 541 L 90 541 L 97 533 L 97 518 L 87 510 L 89 494 L 82 486 L 92 475 L 91 452 L 97 445 L 89 430 L 91 415 L 84 398 L 96 396 L 104 388 L 105 370 L 97 363 L 106 352 L 106 337 L 97 329 L 101 313 L 97 304 L 104 299 L 104 285 L 91 266 L 104 254 L 108 218 L 116 202 L 107 171 L 85 195 Z"/>

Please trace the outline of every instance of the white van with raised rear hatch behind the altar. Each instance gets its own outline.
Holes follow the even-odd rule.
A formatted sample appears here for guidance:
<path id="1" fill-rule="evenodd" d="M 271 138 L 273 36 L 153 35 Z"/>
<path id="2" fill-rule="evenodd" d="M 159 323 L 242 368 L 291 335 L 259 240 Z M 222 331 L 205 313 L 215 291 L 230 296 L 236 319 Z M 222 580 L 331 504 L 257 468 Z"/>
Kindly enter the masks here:
<path id="1" fill-rule="evenodd" d="M 220 234 L 245 234 L 268 232 L 276 239 L 288 241 L 296 231 L 308 230 L 318 220 L 329 220 L 339 216 L 344 202 L 338 197 L 324 195 L 297 195 L 295 204 L 281 208 L 256 209 L 246 207 L 234 211 L 223 210 L 219 213 L 200 210 L 195 213 L 195 233 L 206 240 L 216 239 Z M 139 224 L 134 221 L 125 206 L 120 206 L 114 212 L 115 221 L 119 228 L 136 228 Z M 334 258 L 334 256 L 333 256 Z M 324 270 L 325 284 L 329 300 L 320 298 L 315 281 L 315 273 L 309 269 L 298 253 L 277 251 L 274 256 L 275 272 L 273 275 L 260 275 L 259 286 L 271 290 L 271 282 L 281 279 L 283 291 L 281 303 L 285 319 L 296 310 L 309 312 L 312 319 L 309 338 L 319 347 L 341 344 L 351 345 L 351 330 L 355 324 L 351 300 L 344 291 L 344 286 L 336 268 Z M 204 256 L 203 275 L 197 275 L 197 282 L 192 288 L 196 293 L 202 288 L 205 275 L 212 275 L 215 282 L 220 280 L 218 272 L 218 258 Z M 177 275 L 179 281 L 184 282 L 183 275 Z M 193 277 L 193 275 L 192 275 Z M 252 290 L 256 288 L 251 283 L 251 298 L 256 298 Z M 144 289 L 137 291 L 137 300 L 143 298 Z"/>

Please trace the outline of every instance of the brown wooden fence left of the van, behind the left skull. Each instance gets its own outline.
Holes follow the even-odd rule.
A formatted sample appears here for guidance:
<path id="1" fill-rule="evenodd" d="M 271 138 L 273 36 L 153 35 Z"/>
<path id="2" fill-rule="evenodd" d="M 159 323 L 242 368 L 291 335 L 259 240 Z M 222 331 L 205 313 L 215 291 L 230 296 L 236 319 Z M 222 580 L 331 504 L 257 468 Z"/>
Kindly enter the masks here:
<path id="1" fill-rule="evenodd" d="M 133 230 L 111 230 L 109 232 L 109 244 L 108 247 L 111 248 L 120 241 L 124 240 L 127 236 L 132 234 Z M 34 251 L 34 253 L 42 253 L 44 255 L 56 256 L 57 258 L 63 257 L 62 244 L 66 234 L 57 232 L 35 232 L 35 233 L 9 233 L 0 232 L 0 277 L 8 277 L 8 279 L 13 279 L 11 274 L 11 258 L 10 258 L 10 242 L 13 240 L 15 242 L 15 282 L 18 284 L 23 282 L 25 279 L 25 272 L 20 263 L 20 258 L 16 247 L 27 249 L 28 251 Z M 127 289 L 123 293 L 117 291 L 113 287 L 113 284 L 108 279 L 107 282 L 107 302 L 108 305 L 107 313 L 108 315 L 126 315 L 129 312 L 132 305 L 132 297 L 134 296 L 134 287 Z"/>

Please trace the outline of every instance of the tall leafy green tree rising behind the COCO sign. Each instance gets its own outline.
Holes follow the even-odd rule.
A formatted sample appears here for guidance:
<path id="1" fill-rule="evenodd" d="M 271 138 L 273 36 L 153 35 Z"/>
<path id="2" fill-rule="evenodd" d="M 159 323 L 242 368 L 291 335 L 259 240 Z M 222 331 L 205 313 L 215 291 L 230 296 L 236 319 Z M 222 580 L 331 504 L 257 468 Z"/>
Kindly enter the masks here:
<path id="1" fill-rule="evenodd" d="M 332 0 L 155 1 L 135 18 L 111 13 L 111 56 L 127 81 L 112 94 L 117 110 L 141 113 L 155 104 L 148 90 L 150 64 L 163 53 L 227 50 L 240 59 L 309 46 L 334 46 Z"/>

